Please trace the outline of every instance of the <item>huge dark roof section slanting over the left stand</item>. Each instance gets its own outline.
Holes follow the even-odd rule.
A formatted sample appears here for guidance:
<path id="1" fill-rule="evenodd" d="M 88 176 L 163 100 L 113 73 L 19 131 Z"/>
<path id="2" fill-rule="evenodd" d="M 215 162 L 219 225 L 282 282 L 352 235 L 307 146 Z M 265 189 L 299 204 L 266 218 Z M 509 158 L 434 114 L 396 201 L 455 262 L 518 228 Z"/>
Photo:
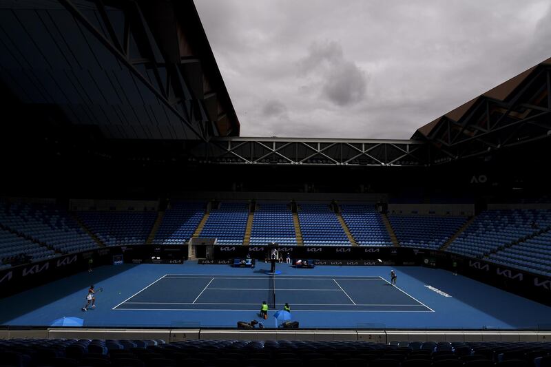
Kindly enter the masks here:
<path id="1" fill-rule="evenodd" d="M 6 0 L 0 22 L 0 88 L 45 121 L 106 138 L 239 135 L 191 0 Z"/>

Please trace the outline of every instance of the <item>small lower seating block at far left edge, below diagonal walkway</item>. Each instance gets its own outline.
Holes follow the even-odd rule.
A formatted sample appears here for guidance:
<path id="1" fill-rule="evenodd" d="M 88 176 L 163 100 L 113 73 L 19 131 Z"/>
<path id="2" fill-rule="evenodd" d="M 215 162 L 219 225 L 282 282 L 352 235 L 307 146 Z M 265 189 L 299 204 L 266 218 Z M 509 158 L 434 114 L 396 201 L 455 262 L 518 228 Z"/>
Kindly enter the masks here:
<path id="1" fill-rule="evenodd" d="M 30 256 L 31 261 L 56 257 L 55 251 L 0 228 L 0 264 L 15 260 L 21 253 Z M 0 266 L 0 270 L 2 267 Z"/>

